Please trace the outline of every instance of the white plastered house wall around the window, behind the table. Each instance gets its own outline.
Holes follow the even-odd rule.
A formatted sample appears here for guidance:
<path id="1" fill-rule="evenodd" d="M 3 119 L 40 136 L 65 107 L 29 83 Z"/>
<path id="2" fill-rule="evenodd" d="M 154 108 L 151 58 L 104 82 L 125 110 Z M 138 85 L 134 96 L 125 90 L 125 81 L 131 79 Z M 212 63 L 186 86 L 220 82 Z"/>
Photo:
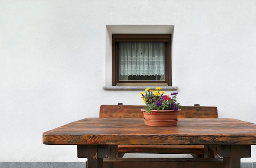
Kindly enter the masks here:
<path id="1" fill-rule="evenodd" d="M 106 25 L 174 25 L 181 104 L 256 123 L 255 15 L 249 0 L 0 1 L 0 161 L 85 161 L 42 133 L 97 117 L 100 104 L 142 104 L 139 90 L 102 89 Z M 256 162 L 255 146 L 242 161 Z"/>

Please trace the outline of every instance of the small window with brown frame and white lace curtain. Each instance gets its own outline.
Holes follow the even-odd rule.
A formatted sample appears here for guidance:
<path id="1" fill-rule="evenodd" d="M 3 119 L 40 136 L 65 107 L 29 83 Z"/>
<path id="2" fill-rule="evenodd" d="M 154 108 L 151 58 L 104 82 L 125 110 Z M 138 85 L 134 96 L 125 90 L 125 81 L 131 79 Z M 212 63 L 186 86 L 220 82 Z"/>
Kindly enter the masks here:
<path id="1" fill-rule="evenodd" d="M 112 86 L 171 86 L 171 34 L 113 34 Z"/>

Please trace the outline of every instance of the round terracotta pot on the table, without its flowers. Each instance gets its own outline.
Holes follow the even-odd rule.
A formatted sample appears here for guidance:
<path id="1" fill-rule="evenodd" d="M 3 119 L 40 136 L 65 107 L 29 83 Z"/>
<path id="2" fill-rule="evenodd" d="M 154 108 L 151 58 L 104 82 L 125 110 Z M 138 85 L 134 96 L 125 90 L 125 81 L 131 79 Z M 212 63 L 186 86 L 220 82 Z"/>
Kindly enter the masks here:
<path id="1" fill-rule="evenodd" d="M 144 114 L 144 123 L 148 126 L 175 126 L 178 122 L 178 111 L 174 110 L 151 110 L 155 115 L 146 112 L 146 109 L 141 109 Z"/>

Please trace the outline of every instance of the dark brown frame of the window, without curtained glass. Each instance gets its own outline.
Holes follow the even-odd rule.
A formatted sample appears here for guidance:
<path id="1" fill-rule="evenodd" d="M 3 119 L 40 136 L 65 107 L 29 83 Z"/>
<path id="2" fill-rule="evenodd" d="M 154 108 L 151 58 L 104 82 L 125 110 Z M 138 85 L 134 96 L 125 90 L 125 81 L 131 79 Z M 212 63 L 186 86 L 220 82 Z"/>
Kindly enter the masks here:
<path id="1" fill-rule="evenodd" d="M 120 81 L 118 42 L 165 42 L 165 80 Z M 112 35 L 112 86 L 172 86 L 171 34 L 113 34 Z"/>

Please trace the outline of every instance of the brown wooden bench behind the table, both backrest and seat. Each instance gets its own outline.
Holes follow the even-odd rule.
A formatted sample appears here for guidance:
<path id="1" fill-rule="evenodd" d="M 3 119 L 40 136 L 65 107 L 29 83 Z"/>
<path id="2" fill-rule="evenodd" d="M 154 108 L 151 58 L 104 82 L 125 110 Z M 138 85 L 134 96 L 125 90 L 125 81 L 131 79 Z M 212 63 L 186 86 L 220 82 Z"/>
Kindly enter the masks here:
<path id="1" fill-rule="evenodd" d="M 142 105 L 101 105 L 99 117 L 143 118 Z M 218 118 L 217 107 L 183 106 L 178 118 Z M 207 147 L 206 147 L 207 148 Z M 203 145 L 119 145 L 112 149 L 111 157 L 123 157 L 125 153 L 191 154 L 193 157 L 214 157 Z"/>

